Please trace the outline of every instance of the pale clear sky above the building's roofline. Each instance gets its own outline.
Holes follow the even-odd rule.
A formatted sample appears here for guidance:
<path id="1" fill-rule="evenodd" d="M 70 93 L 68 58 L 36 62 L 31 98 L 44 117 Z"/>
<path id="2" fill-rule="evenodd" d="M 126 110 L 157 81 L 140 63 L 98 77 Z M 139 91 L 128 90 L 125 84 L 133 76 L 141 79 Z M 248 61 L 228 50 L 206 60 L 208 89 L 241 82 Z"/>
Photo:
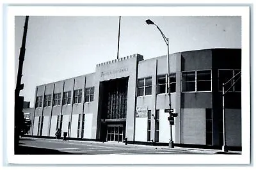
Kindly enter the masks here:
<path id="1" fill-rule="evenodd" d="M 186 50 L 241 48 L 241 17 L 121 17 L 119 58 L 144 59 L 167 53 L 167 45 L 150 19 L 169 38 L 170 54 Z M 15 83 L 25 17 L 15 17 Z M 33 107 L 36 86 L 95 72 L 116 59 L 119 17 L 31 16 L 20 95 Z"/>

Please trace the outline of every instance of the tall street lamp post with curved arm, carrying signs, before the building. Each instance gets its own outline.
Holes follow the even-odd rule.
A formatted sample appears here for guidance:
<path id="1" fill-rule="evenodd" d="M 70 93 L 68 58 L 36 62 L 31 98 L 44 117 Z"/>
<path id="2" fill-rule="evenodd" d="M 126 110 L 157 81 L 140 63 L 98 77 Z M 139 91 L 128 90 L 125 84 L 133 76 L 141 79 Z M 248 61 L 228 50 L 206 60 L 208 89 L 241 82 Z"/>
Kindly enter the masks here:
<path id="1" fill-rule="evenodd" d="M 171 104 L 171 94 L 170 94 L 170 63 L 169 63 L 169 38 L 166 38 L 164 33 L 161 31 L 161 29 L 150 19 L 146 20 L 147 24 L 150 25 L 155 25 L 157 29 L 160 31 L 161 35 L 164 38 L 164 42 L 167 45 L 167 91 L 168 91 L 168 98 L 169 98 L 169 109 L 172 109 L 172 104 Z M 170 112 L 170 114 L 172 114 Z M 169 148 L 174 148 L 173 145 L 173 139 L 172 139 L 172 124 L 170 123 L 170 142 L 169 142 Z"/>

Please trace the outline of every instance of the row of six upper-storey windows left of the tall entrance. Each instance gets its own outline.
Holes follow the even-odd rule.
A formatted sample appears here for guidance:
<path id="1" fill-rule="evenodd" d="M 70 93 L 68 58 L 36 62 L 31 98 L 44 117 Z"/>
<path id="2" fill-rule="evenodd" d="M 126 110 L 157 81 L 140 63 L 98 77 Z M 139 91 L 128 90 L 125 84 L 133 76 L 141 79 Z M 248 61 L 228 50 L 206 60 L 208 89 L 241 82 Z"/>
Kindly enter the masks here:
<path id="1" fill-rule="evenodd" d="M 94 87 L 85 89 L 85 102 L 93 102 L 94 99 Z M 43 97 L 36 97 L 36 107 L 42 107 Z M 63 105 L 71 103 L 71 91 L 63 92 Z M 82 102 L 82 89 L 76 89 L 74 91 L 73 104 L 79 104 Z M 52 98 L 52 105 L 61 105 L 61 93 L 54 93 Z M 44 107 L 51 106 L 51 95 L 44 96 Z"/>

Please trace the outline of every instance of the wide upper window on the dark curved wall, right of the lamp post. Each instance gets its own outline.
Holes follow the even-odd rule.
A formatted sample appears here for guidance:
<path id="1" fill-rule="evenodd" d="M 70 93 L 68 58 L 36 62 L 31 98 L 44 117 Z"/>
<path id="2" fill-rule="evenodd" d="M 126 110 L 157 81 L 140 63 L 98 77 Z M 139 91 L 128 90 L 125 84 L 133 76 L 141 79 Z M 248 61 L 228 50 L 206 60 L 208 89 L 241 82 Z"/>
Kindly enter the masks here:
<path id="1" fill-rule="evenodd" d="M 211 70 L 182 72 L 182 92 L 211 91 Z"/>

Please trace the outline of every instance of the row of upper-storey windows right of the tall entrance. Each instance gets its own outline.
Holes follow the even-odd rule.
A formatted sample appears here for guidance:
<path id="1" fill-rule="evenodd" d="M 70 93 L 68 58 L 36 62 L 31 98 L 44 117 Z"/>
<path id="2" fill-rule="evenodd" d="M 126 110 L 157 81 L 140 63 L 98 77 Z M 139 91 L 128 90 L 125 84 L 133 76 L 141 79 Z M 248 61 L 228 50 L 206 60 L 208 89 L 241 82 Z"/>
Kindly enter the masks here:
<path id="1" fill-rule="evenodd" d="M 232 79 L 241 70 L 218 70 L 218 90 L 222 91 L 222 83 Z M 237 81 L 237 82 L 236 82 Z M 234 84 L 236 82 L 236 84 Z M 157 94 L 168 93 L 167 75 L 157 76 Z M 181 73 L 182 92 L 212 91 L 211 70 L 189 71 Z M 241 79 L 235 77 L 225 86 L 225 91 L 234 85 L 229 91 L 241 91 Z M 170 93 L 176 92 L 176 73 L 170 74 Z M 152 94 L 152 77 L 138 79 L 138 97 Z"/>

